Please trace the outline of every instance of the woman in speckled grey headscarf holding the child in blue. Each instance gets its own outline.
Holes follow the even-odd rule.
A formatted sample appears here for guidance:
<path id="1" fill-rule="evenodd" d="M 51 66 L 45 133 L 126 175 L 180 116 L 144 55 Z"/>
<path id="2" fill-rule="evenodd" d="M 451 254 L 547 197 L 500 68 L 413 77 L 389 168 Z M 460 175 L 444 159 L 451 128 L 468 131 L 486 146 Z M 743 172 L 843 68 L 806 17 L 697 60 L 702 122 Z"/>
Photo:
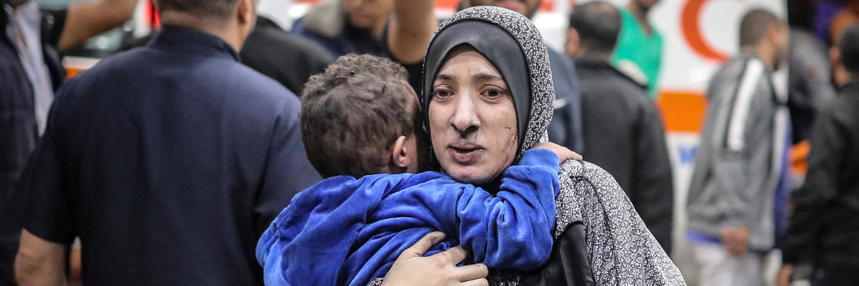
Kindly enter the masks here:
<path id="1" fill-rule="evenodd" d="M 511 10 L 480 6 L 444 21 L 424 60 L 422 91 L 432 163 L 454 180 L 491 189 L 548 139 L 555 99 L 548 53 L 532 21 Z M 567 161 L 560 177 L 549 263 L 493 271 L 490 284 L 588 284 L 591 275 L 598 285 L 685 284 L 610 174 Z"/>

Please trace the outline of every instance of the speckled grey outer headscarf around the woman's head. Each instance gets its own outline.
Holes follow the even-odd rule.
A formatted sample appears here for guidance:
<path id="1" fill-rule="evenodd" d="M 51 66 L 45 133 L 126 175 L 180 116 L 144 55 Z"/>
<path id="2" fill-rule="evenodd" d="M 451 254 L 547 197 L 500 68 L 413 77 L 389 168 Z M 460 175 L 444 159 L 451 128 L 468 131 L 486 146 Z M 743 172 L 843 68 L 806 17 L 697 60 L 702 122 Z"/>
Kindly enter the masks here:
<path id="1" fill-rule="evenodd" d="M 509 9 L 478 6 L 454 14 L 436 30 L 423 61 L 423 110 L 429 110 L 432 82 L 448 52 L 464 44 L 483 54 L 508 82 L 519 128 L 518 161 L 527 149 L 548 141 L 555 89 L 543 37 L 531 20 Z"/>

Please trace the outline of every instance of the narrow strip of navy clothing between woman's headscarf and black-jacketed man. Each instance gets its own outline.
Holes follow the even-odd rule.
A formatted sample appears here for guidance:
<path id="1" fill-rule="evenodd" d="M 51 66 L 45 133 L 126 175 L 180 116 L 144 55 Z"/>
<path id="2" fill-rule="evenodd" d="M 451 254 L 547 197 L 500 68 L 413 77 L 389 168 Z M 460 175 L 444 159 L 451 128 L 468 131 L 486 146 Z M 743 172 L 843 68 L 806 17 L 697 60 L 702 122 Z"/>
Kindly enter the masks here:
<path id="1" fill-rule="evenodd" d="M 559 52 L 549 51 L 551 82 L 555 86 L 555 115 L 549 124 L 549 140 L 582 153 L 582 100 L 576 65 Z"/>

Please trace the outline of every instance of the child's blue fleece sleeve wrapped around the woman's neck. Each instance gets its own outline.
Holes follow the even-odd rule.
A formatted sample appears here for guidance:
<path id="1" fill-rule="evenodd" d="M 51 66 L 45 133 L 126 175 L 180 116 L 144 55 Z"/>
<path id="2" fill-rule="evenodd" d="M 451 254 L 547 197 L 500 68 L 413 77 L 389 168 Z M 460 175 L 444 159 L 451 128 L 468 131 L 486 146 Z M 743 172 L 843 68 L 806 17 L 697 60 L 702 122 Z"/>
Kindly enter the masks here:
<path id="1" fill-rule="evenodd" d="M 519 165 L 502 173 L 495 197 L 466 185 L 456 208 L 460 243 L 472 251 L 476 263 L 520 271 L 545 264 L 560 192 L 558 161 L 548 149 L 528 150 Z"/>

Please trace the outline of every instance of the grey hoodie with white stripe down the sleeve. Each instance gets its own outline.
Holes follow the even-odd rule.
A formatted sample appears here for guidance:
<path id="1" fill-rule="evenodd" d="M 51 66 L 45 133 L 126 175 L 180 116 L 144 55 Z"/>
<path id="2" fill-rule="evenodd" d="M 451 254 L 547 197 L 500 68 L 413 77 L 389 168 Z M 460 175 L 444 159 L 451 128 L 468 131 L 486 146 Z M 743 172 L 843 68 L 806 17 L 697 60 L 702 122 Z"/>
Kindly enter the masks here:
<path id="1" fill-rule="evenodd" d="M 787 98 L 777 95 L 771 71 L 751 54 L 723 65 L 707 98 L 687 202 L 689 229 L 717 238 L 725 227 L 748 228 L 749 249 L 769 250 L 789 124 Z"/>

